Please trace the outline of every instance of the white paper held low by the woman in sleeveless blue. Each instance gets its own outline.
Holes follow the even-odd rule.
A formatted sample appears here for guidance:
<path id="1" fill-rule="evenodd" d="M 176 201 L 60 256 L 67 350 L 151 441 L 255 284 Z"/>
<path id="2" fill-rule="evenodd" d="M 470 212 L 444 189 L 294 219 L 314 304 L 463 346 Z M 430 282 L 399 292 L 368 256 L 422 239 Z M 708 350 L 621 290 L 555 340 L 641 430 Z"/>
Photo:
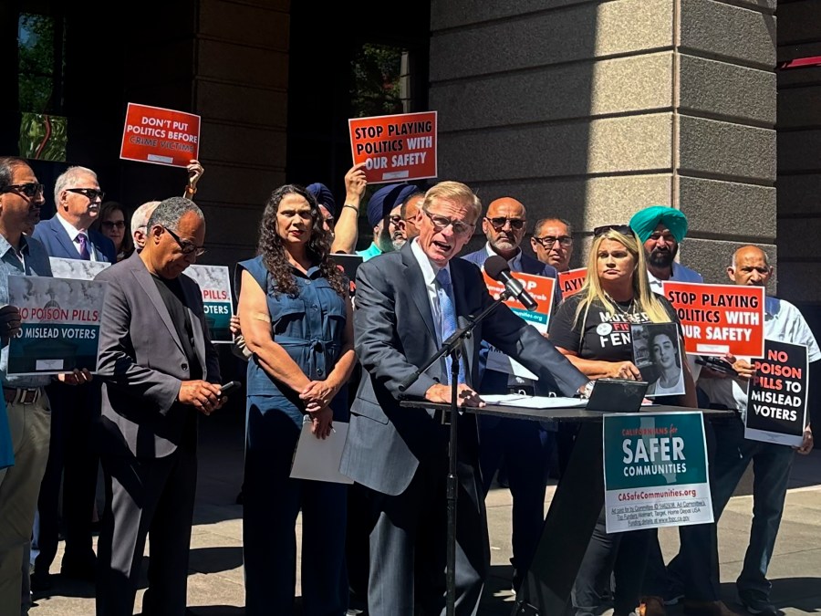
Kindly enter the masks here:
<path id="1" fill-rule="evenodd" d="M 317 438 L 311 433 L 311 420 L 306 415 L 302 423 L 302 432 L 299 433 L 299 441 L 296 443 L 290 476 L 294 479 L 352 484 L 353 479 L 339 472 L 342 448 L 347 438 L 348 423 L 345 422 L 334 422 L 330 436 L 326 439 Z"/>

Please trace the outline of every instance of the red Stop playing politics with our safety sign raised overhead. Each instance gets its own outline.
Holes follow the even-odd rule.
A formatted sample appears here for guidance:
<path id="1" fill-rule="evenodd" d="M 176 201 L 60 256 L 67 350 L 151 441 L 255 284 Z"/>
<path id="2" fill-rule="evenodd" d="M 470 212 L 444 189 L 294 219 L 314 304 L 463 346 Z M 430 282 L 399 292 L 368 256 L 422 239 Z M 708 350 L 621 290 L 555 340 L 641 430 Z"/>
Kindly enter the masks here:
<path id="1" fill-rule="evenodd" d="M 348 120 L 354 164 L 368 183 L 435 178 L 436 111 Z"/>

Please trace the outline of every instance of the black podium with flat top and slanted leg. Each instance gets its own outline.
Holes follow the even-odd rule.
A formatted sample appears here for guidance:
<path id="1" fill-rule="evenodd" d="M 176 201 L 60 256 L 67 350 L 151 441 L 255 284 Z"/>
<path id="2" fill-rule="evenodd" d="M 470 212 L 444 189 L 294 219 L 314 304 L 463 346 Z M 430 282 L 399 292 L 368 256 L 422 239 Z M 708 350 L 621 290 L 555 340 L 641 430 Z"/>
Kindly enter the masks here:
<path id="1" fill-rule="evenodd" d="M 402 406 L 450 411 L 450 404 L 405 401 Z M 585 408 L 529 409 L 488 404 L 478 408 L 460 408 L 476 415 L 514 417 L 530 421 L 579 423 L 573 452 L 565 473 L 547 510 L 542 538 L 530 569 L 516 593 L 512 616 L 561 616 L 570 602 L 570 591 L 593 534 L 601 507 L 604 506 L 604 473 L 602 471 L 602 417 L 605 414 Z M 726 415 L 732 411 L 691 409 L 683 406 L 653 404 L 641 412 L 701 411 L 705 417 Z"/>

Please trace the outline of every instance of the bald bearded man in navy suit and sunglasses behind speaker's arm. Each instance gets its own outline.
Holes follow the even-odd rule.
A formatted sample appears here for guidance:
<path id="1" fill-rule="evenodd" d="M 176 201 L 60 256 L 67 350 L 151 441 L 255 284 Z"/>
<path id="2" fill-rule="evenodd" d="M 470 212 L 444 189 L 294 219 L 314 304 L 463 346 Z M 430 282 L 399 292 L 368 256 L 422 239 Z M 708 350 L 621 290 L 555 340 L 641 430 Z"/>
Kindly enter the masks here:
<path id="1" fill-rule="evenodd" d="M 556 269 L 522 253 L 519 245 L 525 237 L 525 205 L 512 197 L 491 202 L 482 220 L 487 244 L 462 258 L 483 266 L 489 256 L 498 255 L 511 271 L 557 278 Z M 502 371 L 485 369 L 489 345 L 483 342 L 479 353 L 480 393 L 517 393 L 534 395 L 535 381 Z M 549 388 L 547 388 L 549 389 Z M 541 388 L 540 393 L 546 393 Z M 513 590 L 525 578 L 545 524 L 547 463 L 550 454 L 549 433 L 525 419 L 485 415 L 479 418 L 479 454 L 484 492 L 490 489 L 494 474 L 503 461 L 507 482 L 513 496 Z"/>

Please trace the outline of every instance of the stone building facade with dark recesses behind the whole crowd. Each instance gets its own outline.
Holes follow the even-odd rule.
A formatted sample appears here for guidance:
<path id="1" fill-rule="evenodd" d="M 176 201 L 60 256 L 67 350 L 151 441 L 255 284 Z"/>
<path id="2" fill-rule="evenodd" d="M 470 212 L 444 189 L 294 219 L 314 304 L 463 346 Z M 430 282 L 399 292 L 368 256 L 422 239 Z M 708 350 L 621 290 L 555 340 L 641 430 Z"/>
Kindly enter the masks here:
<path id="1" fill-rule="evenodd" d="M 403 50 L 403 110 L 439 113 L 440 179 L 569 219 L 574 266 L 597 224 L 670 204 L 691 223 L 681 259 L 706 281 L 726 281 L 735 246 L 764 245 L 779 295 L 821 307 L 807 284 L 821 275 L 821 66 L 779 68 L 821 56 L 821 0 L 414 0 L 400 19 L 372 0 L 150 1 L 128 18 L 66 4 L 0 8 L 0 53 L 17 60 L 0 69 L 17 84 L 0 101 L 0 151 L 19 151 L 23 112 L 64 117 L 65 161 L 35 162 L 41 181 L 87 165 L 133 208 L 181 193 L 185 176 L 120 161 L 127 104 L 201 115 L 208 263 L 253 254 L 281 183 L 341 198 L 351 62 L 375 44 Z M 26 16 L 52 20 L 50 68 L 24 62 Z M 23 107 L 35 73 L 52 83 L 41 110 Z"/>

